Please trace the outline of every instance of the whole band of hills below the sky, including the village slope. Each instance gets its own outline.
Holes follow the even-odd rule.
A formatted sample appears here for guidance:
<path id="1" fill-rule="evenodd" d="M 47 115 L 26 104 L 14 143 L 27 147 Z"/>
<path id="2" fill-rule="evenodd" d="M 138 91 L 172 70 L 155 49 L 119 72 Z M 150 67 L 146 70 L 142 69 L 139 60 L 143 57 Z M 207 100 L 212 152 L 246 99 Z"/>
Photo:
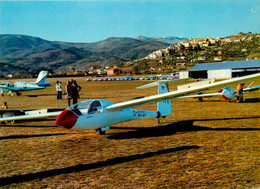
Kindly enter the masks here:
<path id="1" fill-rule="evenodd" d="M 221 38 L 111 37 L 94 43 L 0 35 L 0 76 L 85 71 L 119 66 L 124 73 L 169 73 L 197 63 L 259 59 L 260 33 Z"/>

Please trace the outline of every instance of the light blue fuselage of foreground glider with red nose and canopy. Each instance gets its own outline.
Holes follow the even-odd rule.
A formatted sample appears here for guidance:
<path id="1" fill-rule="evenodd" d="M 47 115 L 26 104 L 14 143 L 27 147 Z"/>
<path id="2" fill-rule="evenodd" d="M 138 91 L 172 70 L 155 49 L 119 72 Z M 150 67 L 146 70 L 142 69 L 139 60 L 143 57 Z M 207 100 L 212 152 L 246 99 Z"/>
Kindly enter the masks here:
<path id="1" fill-rule="evenodd" d="M 88 107 L 83 108 L 84 104 Z M 99 129 L 124 121 L 158 116 L 156 111 L 131 108 L 107 110 L 106 107 L 112 104 L 115 103 L 98 99 L 83 101 L 63 111 L 58 116 L 56 124 L 69 129 Z"/>

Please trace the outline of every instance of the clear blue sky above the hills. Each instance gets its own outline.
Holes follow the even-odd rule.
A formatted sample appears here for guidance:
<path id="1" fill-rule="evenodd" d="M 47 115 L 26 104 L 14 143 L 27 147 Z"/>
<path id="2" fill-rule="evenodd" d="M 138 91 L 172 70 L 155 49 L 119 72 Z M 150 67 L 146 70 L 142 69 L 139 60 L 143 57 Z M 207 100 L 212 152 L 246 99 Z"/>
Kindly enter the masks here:
<path id="1" fill-rule="evenodd" d="M 51 41 L 260 32 L 260 0 L 0 1 L 1 34 Z"/>

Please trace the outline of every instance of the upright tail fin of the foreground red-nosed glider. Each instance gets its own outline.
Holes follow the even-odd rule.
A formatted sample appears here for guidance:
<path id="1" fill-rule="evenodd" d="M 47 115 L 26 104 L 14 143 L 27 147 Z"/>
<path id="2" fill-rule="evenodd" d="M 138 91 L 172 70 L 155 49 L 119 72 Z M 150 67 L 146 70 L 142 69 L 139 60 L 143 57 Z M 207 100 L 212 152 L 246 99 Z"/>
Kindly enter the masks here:
<path id="1" fill-rule="evenodd" d="M 169 92 L 168 83 L 158 83 L 158 94 L 164 94 Z M 160 116 L 165 117 L 172 114 L 171 100 L 165 99 L 163 101 L 157 102 L 157 111 Z"/>

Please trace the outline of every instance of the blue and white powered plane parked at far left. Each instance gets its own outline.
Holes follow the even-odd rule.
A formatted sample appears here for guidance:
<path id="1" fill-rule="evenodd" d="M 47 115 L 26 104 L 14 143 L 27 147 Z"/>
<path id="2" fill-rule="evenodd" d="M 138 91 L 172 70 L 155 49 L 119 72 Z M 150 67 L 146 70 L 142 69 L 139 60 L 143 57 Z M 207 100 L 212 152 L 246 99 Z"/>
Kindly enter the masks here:
<path id="1" fill-rule="evenodd" d="M 50 87 L 51 84 L 46 81 L 48 72 L 41 71 L 35 82 L 25 82 L 25 81 L 16 81 L 12 84 L 10 81 L 6 82 L 4 85 L 0 85 L 0 95 L 3 95 L 4 91 L 9 91 L 8 95 L 13 96 L 13 92 L 16 92 L 17 96 L 21 95 L 21 92 L 24 91 L 32 91 L 45 89 L 46 87 Z"/>

